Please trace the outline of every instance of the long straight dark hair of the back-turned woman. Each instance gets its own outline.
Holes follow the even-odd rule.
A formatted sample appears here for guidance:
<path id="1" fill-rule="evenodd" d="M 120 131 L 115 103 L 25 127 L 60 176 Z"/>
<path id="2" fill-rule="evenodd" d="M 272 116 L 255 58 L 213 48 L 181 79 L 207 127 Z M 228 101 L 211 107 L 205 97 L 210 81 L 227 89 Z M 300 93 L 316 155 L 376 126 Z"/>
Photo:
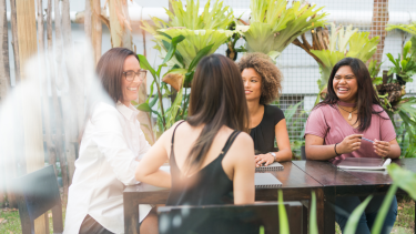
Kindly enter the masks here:
<path id="1" fill-rule="evenodd" d="M 248 109 L 240 70 L 221 54 L 203 58 L 192 81 L 187 123 L 205 124 L 185 161 L 186 174 L 201 167 L 212 142 L 223 125 L 245 131 Z"/>

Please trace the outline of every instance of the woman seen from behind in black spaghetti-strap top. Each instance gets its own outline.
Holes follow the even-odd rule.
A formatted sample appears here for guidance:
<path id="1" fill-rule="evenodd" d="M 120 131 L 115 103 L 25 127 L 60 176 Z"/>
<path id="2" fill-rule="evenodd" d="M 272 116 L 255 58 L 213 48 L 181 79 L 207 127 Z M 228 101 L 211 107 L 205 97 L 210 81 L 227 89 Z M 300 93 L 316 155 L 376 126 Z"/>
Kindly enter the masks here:
<path id="1" fill-rule="evenodd" d="M 166 205 L 254 202 L 254 146 L 239 68 L 212 54 L 196 67 L 186 121 L 164 132 L 135 179 L 171 187 Z M 166 161 L 171 174 L 159 170 Z"/>

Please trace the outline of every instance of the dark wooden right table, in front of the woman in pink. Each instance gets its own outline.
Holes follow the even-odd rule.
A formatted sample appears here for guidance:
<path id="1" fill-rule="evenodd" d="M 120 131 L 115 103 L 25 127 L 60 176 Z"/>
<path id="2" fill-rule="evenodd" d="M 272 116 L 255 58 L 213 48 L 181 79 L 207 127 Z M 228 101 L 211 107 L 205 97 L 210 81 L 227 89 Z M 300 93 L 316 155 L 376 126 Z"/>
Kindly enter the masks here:
<path id="1" fill-rule="evenodd" d="M 416 159 L 394 160 L 404 169 L 416 172 Z M 387 172 L 368 172 L 336 169 L 329 162 L 294 161 L 294 165 L 315 179 L 323 186 L 324 205 L 324 233 L 335 233 L 335 204 L 336 196 L 367 196 L 371 194 L 386 194 L 393 183 Z M 398 193 L 405 193 L 398 190 Z M 319 215 L 317 216 L 319 218 Z M 416 221 L 416 220 L 415 220 Z M 319 232 L 321 233 L 321 232 Z M 416 231 L 415 231 L 416 233 Z"/>

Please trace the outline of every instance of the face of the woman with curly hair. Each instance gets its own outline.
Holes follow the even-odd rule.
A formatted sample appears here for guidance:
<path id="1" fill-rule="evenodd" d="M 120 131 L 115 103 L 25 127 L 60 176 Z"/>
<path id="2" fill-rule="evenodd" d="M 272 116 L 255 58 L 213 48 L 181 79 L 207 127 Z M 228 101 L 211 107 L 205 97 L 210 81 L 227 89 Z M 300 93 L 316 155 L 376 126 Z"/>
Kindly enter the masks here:
<path id="1" fill-rule="evenodd" d="M 241 73 L 247 101 L 257 101 L 262 96 L 262 77 L 252 68 L 244 69 Z"/>

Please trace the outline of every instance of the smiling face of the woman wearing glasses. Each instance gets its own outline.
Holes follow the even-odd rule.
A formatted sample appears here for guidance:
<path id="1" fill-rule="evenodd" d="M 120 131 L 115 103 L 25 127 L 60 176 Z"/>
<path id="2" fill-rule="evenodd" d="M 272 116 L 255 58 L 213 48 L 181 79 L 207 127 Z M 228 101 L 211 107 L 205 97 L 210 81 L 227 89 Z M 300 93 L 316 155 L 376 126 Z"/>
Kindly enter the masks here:
<path id="1" fill-rule="evenodd" d="M 140 64 L 139 64 L 139 60 L 135 57 L 130 55 L 124 60 L 123 72 L 134 71 L 139 73 L 139 70 L 140 70 Z M 142 81 L 140 80 L 138 75 L 135 75 L 133 81 L 128 81 L 125 79 L 125 75 L 124 74 L 122 75 L 123 78 L 121 79 L 122 80 L 121 89 L 123 91 L 123 100 L 120 100 L 120 101 L 124 105 L 129 106 L 131 101 L 138 99 L 139 87 L 140 84 L 142 84 Z"/>

